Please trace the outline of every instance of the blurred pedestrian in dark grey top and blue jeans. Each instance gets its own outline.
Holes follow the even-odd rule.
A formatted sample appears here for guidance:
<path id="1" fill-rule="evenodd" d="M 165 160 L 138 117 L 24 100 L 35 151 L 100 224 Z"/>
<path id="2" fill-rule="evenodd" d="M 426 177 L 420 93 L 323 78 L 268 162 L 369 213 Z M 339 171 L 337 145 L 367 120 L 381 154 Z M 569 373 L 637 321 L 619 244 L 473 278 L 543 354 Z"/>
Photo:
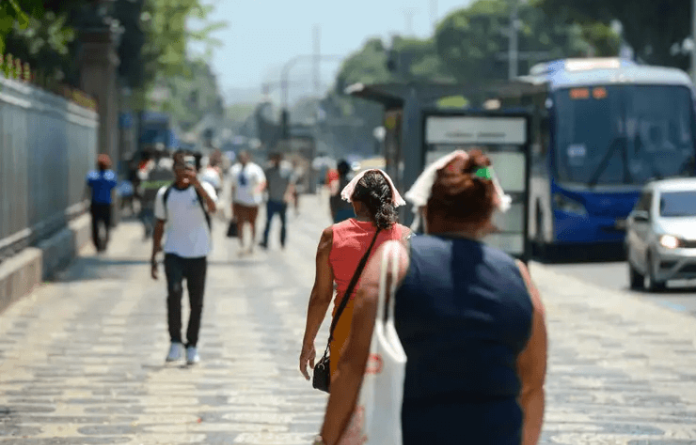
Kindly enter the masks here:
<path id="1" fill-rule="evenodd" d="M 281 166 L 283 155 L 273 153 L 270 156 L 271 166 L 266 169 L 266 191 L 268 192 L 268 202 L 266 202 L 266 229 L 263 231 L 263 241 L 260 246 L 268 249 L 268 234 L 271 231 L 271 221 L 278 214 L 280 217 L 280 246 L 285 249 L 287 237 L 287 210 L 288 203 L 292 202 L 295 183 L 291 169 Z"/>

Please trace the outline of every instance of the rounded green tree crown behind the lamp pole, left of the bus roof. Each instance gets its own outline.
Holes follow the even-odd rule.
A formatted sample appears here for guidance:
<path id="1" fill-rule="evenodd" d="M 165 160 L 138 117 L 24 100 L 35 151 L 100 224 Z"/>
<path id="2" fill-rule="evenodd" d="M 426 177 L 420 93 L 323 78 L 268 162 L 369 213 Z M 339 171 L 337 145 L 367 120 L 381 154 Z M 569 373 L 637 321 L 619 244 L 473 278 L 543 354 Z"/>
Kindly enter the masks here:
<path id="1" fill-rule="evenodd" d="M 479 0 L 451 13 L 439 24 L 435 35 L 437 52 L 457 81 L 476 83 L 507 78 L 510 7 L 506 0 Z M 537 55 L 519 61 L 520 73 L 528 72 L 542 60 L 618 51 L 618 40 L 600 32 L 604 29 L 585 30 L 551 17 L 534 4 L 520 5 L 519 50 Z"/>

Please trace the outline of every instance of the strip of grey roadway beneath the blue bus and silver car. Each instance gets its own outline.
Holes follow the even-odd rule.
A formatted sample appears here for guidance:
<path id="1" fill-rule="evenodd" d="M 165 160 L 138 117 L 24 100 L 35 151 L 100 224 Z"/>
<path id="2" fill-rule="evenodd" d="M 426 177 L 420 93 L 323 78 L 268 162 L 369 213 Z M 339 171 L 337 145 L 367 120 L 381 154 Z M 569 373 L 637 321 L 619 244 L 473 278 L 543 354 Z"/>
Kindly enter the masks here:
<path id="1" fill-rule="evenodd" d="M 650 293 L 646 291 L 631 291 L 629 289 L 628 266 L 624 261 L 554 264 L 549 265 L 549 267 L 554 271 L 572 275 L 605 289 L 631 292 L 639 298 L 653 301 L 675 311 L 686 312 L 696 316 L 696 283 L 693 281 L 669 283 L 666 291 Z"/>

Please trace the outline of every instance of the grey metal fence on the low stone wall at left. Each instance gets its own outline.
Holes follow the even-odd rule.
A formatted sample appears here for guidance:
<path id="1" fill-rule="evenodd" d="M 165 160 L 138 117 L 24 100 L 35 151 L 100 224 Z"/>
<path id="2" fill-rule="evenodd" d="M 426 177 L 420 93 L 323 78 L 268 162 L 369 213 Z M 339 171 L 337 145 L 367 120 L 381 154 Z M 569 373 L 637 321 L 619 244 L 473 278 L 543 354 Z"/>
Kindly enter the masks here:
<path id="1" fill-rule="evenodd" d="M 0 75 L 0 261 L 85 211 L 98 115 Z"/>

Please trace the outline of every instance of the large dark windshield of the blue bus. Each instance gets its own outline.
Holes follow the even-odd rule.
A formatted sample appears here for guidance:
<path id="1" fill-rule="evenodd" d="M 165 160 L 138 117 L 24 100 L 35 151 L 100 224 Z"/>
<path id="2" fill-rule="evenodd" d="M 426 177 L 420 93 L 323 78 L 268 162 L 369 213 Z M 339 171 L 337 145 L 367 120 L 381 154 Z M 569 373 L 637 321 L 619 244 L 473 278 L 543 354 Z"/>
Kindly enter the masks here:
<path id="1" fill-rule="evenodd" d="M 694 157 L 690 91 L 670 85 L 577 87 L 555 93 L 559 182 L 640 185 L 685 173 Z"/>

